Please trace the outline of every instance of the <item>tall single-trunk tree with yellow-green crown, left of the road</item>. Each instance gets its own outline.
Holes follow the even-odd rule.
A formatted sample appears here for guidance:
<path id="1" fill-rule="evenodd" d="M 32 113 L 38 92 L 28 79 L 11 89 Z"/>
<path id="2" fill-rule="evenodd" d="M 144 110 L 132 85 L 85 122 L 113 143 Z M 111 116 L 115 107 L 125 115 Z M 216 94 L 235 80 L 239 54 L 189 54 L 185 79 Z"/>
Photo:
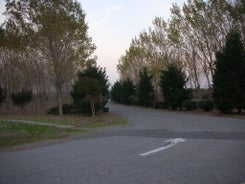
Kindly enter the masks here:
<path id="1" fill-rule="evenodd" d="M 35 49 L 48 62 L 62 115 L 64 85 L 95 50 L 80 4 L 76 0 L 6 0 L 6 14 L 7 32 L 18 40 L 18 49 Z"/>

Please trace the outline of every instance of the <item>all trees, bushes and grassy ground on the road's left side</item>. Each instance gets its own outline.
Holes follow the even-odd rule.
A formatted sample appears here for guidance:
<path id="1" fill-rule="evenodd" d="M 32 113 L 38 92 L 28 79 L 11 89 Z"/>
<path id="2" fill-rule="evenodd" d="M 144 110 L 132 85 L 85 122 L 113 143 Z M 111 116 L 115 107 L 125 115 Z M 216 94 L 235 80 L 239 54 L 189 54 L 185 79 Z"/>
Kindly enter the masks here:
<path id="1" fill-rule="evenodd" d="M 108 76 L 97 66 L 78 1 L 10 0 L 4 15 L 0 146 L 82 136 L 85 129 L 127 123 L 106 106 Z"/>

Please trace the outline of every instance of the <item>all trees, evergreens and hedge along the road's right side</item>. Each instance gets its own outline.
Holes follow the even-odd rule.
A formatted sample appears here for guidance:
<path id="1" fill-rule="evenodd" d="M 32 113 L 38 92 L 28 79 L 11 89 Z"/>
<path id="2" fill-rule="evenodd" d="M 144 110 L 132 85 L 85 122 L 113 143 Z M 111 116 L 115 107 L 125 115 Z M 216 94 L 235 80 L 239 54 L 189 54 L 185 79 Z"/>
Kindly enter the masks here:
<path id="1" fill-rule="evenodd" d="M 119 59 L 120 80 L 112 87 L 112 100 L 171 110 L 243 113 L 244 6 L 241 0 L 173 4 L 170 19 L 156 17 Z M 148 78 L 142 77 L 145 72 Z M 148 96 L 143 99 L 141 94 Z"/>

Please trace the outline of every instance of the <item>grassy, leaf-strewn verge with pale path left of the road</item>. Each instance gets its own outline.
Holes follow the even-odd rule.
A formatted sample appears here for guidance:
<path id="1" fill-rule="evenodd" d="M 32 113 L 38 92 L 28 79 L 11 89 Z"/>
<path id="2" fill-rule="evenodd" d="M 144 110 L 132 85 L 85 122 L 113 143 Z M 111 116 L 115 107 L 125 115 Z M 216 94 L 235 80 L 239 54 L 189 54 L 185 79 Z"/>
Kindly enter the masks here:
<path id="1" fill-rule="evenodd" d="M 127 124 L 125 118 L 111 113 L 99 114 L 96 118 L 83 115 L 3 115 L 1 119 L 0 148 L 40 141 L 72 139 L 73 137 L 82 137 L 90 129 Z M 16 122 L 12 120 L 16 120 Z M 33 124 L 25 123 L 25 121 L 32 121 Z M 40 125 L 35 122 L 49 123 L 50 125 Z M 56 125 L 70 125 L 72 127 L 59 128 Z"/>

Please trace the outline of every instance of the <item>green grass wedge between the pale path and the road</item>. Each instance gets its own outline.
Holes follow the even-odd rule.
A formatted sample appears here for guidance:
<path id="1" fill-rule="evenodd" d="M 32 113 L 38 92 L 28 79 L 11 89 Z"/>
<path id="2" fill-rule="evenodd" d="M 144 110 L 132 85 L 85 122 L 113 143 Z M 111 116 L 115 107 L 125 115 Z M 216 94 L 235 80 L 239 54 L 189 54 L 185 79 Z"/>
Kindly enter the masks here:
<path id="1" fill-rule="evenodd" d="M 46 125 L 0 121 L 0 146 L 11 146 L 49 139 L 61 139 L 79 129 L 62 129 Z"/>

